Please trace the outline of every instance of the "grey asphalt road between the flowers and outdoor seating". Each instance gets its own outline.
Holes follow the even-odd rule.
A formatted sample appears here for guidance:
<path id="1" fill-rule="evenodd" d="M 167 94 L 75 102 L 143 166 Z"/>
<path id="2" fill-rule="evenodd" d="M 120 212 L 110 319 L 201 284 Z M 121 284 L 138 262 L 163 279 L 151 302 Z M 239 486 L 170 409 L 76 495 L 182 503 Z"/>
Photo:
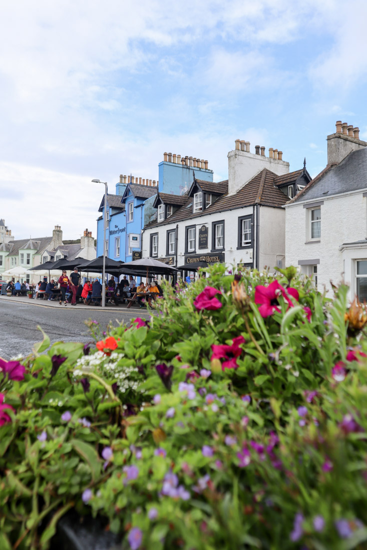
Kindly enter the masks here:
<path id="1" fill-rule="evenodd" d="M 103 329 L 109 321 L 129 322 L 136 317 L 149 317 L 146 311 L 116 308 L 115 311 L 103 311 L 101 307 L 83 309 L 75 307 L 47 307 L 0 301 L 0 357 L 9 360 L 19 354 L 31 353 L 33 344 L 40 342 L 42 334 L 37 330 L 39 324 L 51 340 L 64 342 L 90 342 L 91 337 L 84 321 L 89 318 L 100 323 Z"/>

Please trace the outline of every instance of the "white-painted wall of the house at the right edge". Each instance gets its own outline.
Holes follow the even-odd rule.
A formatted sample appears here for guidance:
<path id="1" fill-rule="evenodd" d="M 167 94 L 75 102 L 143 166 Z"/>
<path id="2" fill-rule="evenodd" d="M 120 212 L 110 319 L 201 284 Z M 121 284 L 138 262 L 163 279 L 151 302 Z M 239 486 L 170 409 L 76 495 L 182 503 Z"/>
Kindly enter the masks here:
<path id="1" fill-rule="evenodd" d="M 285 263 L 298 266 L 300 260 L 319 259 L 318 288 L 330 291 L 330 281 L 341 282 L 344 271 L 352 277 L 352 258 L 345 253 L 343 256 L 339 246 L 367 237 L 367 199 L 358 191 L 322 200 L 320 242 L 310 242 L 307 234 L 309 209 L 303 204 L 285 207 Z M 344 265 L 345 259 L 347 265 Z M 352 281 L 346 279 L 346 282 Z"/>

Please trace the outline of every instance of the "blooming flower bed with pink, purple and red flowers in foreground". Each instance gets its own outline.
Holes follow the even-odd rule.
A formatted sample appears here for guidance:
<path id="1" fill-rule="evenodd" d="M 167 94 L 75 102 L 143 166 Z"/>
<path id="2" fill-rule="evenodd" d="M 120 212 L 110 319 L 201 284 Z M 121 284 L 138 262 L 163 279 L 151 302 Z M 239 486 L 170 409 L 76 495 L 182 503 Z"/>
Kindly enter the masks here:
<path id="1" fill-rule="evenodd" d="M 294 271 L 218 265 L 150 322 L 0 362 L 0 548 L 70 509 L 124 549 L 365 548 L 367 318 Z"/>

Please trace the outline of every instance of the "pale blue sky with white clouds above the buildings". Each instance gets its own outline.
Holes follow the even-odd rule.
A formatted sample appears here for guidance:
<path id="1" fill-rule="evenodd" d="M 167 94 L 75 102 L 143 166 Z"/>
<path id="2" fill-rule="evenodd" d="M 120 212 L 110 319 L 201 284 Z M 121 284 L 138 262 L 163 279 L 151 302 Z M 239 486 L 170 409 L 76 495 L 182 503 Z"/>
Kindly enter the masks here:
<path id="1" fill-rule="evenodd" d="M 367 140 L 365 0 L 2 4 L 0 218 L 15 238 L 96 236 L 104 186 L 165 151 L 228 178 L 235 139 L 327 163 L 336 120 Z"/>

